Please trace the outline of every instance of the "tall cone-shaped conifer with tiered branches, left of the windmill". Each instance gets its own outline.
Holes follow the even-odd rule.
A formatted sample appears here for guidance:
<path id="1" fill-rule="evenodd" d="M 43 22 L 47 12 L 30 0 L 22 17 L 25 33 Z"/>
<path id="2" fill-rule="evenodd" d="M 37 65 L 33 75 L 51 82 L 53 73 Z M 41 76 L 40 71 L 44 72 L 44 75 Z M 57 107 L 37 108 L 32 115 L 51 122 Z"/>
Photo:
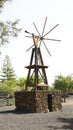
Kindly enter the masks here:
<path id="1" fill-rule="evenodd" d="M 2 72 L 1 72 L 1 81 L 2 82 L 8 82 L 8 81 L 15 81 L 16 75 L 14 73 L 12 64 L 10 62 L 10 58 L 8 55 L 6 55 L 4 62 L 3 62 L 3 67 L 2 67 Z"/>

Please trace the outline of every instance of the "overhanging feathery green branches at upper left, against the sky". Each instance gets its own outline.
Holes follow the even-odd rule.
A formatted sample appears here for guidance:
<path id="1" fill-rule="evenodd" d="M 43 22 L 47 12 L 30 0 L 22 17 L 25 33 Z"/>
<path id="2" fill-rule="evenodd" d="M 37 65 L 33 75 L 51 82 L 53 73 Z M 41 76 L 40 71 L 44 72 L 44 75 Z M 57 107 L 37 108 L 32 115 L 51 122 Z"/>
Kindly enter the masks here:
<path id="1" fill-rule="evenodd" d="M 10 0 L 0 0 L 0 9 L 4 7 L 4 3 L 7 1 Z M 18 35 L 18 32 L 21 31 L 21 29 L 17 27 L 18 23 L 19 20 L 15 20 L 14 22 L 6 21 L 5 23 L 0 21 L 0 46 L 8 43 L 10 36 L 16 37 Z"/>

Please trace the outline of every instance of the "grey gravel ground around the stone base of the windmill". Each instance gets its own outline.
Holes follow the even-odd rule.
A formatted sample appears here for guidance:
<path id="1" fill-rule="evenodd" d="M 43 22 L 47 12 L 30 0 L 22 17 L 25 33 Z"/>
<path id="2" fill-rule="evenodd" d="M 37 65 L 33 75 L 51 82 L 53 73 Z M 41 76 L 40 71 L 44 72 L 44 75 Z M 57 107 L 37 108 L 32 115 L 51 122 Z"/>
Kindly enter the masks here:
<path id="1" fill-rule="evenodd" d="M 15 106 L 0 106 L 0 130 L 73 130 L 73 96 L 63 103 L 62 111 L 17 113 Z M 1 103 L 0 103 L 1 104 Z"/>

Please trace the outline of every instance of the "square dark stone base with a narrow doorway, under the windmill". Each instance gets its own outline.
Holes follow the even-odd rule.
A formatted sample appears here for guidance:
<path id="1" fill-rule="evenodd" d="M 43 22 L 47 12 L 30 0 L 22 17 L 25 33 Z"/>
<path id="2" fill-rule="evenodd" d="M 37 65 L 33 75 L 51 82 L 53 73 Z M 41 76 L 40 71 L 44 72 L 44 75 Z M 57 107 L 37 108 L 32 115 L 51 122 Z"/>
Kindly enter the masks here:
<path id="1" fill-rule="evenodd" d="M 61 91 L 20 91 L 15 93 L 16 110 L 24 112 L 48 112 L 62 109 Z"/>

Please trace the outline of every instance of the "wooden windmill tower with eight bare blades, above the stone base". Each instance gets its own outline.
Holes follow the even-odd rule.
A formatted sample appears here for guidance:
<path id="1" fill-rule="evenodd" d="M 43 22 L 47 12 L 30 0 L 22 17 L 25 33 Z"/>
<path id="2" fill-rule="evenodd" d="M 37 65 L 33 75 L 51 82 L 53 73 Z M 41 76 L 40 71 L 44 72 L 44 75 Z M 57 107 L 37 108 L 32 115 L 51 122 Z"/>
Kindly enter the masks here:
<path id="1" fill-rule="evenodd" d="M 35 88 L 35 90 L 38 89 L 39 74 L 42 77 L 42 80 L 43 80 L 44 84 L 48 85 L 47 76 L 46 76 L 46 72 L 45 72 L 45 68 L 48 68 L 48 66 L 45 66 L 44 63 L 43 63 L 40 46 L 43 43 L 46 50 L 47 50 L 47 52 L 51 56 L 51 53 L 48 50 L 48 48 L 47 48 L 47 46 L 45 44 L 45 41 L 50 40 L 50 41 L 58 41 L 59 42 L 60 40 L 46 38 L 46 36 L 50 32 L 52 32 L 59 25 L 59 24 L 55 25 L 51 30 L 49 30 L 47 33 L 44 34 L 45 27 L 46 27 L 46 22 L 47 22 L 47 17 L 45 18 L 42 34 L 40 34 L 40 32 L 39 32 L 39 30 L 38 30 L 35 23 L 33 23 L 33 25 L 34 25 L 38 35 L 35 35 L 34 33 L 30 33 L 28 31 L 25 31 L 25 33 L 29 34 L 26 37 L 32 38 L 33 43 L 34 43 L 32 46 L 30 46 L 27 49 L 27 51 L 29 51 L 32 48 L 32 54 L 31 54 L 31 59 L 30 59 L 30 65 L 26 66 L 26 68 L 28 69 L 28 75 L 27 75 L 27 81 L 26 81 L 26 87 L 25 87 L 26 90 L 27 90 L 27 87 L 29 86 L 30 74 L 31 74 L 32 69 L 33 69 L 32 74 L 34 74 L 34 88 Z M 33 60 L 34 60 L 34 63 L 33 63 Z"/>

